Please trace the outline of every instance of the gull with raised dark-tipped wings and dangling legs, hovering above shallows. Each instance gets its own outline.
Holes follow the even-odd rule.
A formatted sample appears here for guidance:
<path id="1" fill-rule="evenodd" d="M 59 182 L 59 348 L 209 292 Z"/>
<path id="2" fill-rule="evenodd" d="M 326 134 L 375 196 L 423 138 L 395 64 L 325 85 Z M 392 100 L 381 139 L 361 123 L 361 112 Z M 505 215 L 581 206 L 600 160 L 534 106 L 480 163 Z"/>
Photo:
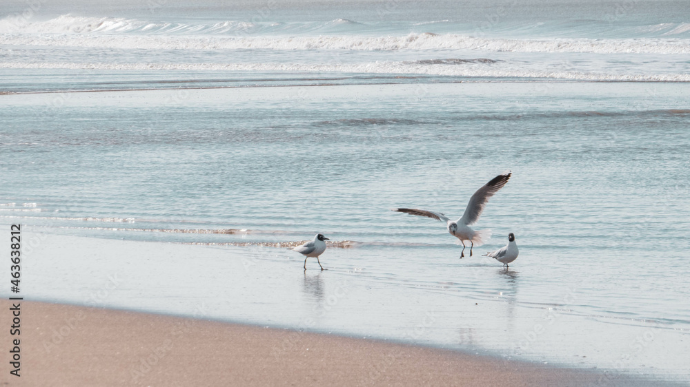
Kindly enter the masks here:
<path id="1" fill-rule="evenodd" d="M 504 172 L 503 174 L 491 179 L 491 181 L 487 182 L 482 188 L 477 189 L 474 195 L 470 198 L 469 203 L 467 203 L 467 207 L 465 208 L 465 212 L 462 214 L 462 218 L 456 220 L 455 222 L 451 221 L 443 213 L 426 211 L 424 209 L 399 208 L 394 209 L 393 211 L 406 212 L 411 215 L 426 216 L 427 218 L 445 221 L 448 232 L 462 242 L 462 252 L 460 253 L 460 258 L 465 256 L 466 240 L 471 243 L 470 256 L 472 256 L 472 248 L 474 247 L 475 243 L 477 246 L 481 246 L 484 244 L 484 242 L 489 240 L 489 238 L 491 238 L 491 230 L 474 231 L 469 226 L 475 224 L 477 220 L 479 220 L 480 215 L 482 215 L 482 211 L 484 211 L 484 207 L 486 207 L 486 202 L 488 202 L 489 198 L 494 196 L 499 189 L 502 189 L 503 186 L 506 185 L 506 182 L 508 182 L 508 179 L 511 178 L 511 175 L 511 171 L 509 171 L 507 174 Z"/>

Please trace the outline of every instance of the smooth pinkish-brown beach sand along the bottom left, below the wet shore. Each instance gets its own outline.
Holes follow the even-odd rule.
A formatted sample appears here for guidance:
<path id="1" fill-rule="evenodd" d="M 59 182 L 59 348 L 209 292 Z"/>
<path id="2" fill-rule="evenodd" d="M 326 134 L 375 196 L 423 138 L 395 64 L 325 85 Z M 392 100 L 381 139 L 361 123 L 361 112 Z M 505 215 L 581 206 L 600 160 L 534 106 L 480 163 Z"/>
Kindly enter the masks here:
<path id="1" fill-rule="evenodd" d="M 0 301 L 9 326 L 7 300 Z M 21 302 L 12 386 L 593 386 L 601 373 L 434 348 L 101 308 Z M 627 380 L 623 385 L 640 384 Z M 648 385 L 648 384 L 640 384 Z"/>

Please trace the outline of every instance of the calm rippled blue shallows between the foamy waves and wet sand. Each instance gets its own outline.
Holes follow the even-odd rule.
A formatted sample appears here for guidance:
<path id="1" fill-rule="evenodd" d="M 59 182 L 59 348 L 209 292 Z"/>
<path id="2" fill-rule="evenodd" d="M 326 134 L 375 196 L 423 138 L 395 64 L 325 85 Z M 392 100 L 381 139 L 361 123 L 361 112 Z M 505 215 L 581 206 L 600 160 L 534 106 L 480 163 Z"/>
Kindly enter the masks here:
<path id="1" fill-rule="evenodd" d="M 593 347 L 604 355 L 584 364 L 611 368 L 620 345 L 607 341 L 616 349 L 606 351 L 592 340 L 626 343 L 649 329 L 673 343 L 669 357 L 687 349 L 684 85 L 551 83 L 538 98 L 529 87 L 540 85 L 520 83 L 430 84 L 423 97 L 420 87 L 190 90 L 173 106 L 166 91 L 81 93 L 59 109 L 43 107 L 50 94 L 4 96 L 12 116 L 3 189 L 23 195 L 6 193 L 0 216 L 67 235 L 240 246 L 275 264 L 290 258 L 288 242 L 322 232 L 336 242 L 326 267 L 360 273 L 355 289 L 392 303 L 385 318 L 376 305 L 348 306 L 364 321 L 314 327 L 322 330 L 400 339 L 371 324 L 409 308 L 395 300 L 404 292 L 435 305 L 430 311 L 491 302 L 463 325 L 480 350 L 567 362 Z M 652 92 L 658 97 L 644 100 Z M 477 224 L 495 237 L 472 258 L 458 259 L 444 224 L 389 211 L 460 216 L 471 193 L 504 169 L 513 178 Z M 520 257 L 506 271 L 478 253 L 500 247 L 508 232 Z M 310 273 L 304 286 L 318 288 L 320 275 Z M 285 326 L 304 318 L 266 302 L 255 296 L 248 311 L 215 317 Z M 179 312 L 174 304 L 162 311 Z M 556 312 L 569 315 L 558 331 L 586 332 L 580 344 L 524 349 L 520 332 Z M 486 318 L 520 328 L 471 334 Z M 424 342 L 457 344 L 446 336 L 457 321 L 449 324 Z M 625 368 L 687 373 L 669 357 Z"/>

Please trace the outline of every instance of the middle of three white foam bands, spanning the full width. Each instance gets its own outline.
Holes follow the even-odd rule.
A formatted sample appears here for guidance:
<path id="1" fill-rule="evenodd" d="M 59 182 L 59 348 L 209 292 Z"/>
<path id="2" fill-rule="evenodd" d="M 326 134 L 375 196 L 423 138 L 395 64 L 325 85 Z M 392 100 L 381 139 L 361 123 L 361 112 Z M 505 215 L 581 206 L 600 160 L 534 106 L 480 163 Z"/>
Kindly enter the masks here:
<path id="1" fill-rule="evenodd" d="M 100 27 L 99 27 L 100 28 Z M 111 25 L 109 28 L 117 28 Z M 484 39 L 456 34 L 407 36 L 165 36 L 123 34 L 3 34 L 3 45 L 160 50 L 481 50 L 690 54 L 689 39 Z"/>

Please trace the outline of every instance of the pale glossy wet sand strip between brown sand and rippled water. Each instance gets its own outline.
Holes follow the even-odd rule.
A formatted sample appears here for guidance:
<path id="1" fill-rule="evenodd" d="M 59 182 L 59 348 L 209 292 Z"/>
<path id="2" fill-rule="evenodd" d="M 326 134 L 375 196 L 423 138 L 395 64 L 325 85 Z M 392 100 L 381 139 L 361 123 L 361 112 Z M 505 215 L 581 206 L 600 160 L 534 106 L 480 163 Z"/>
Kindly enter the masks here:
<path id="1" fill-rule="evenodd" d="M 468 291 L 458 297 L 445 282 L 440 283 L 442 293 L 419 291 L 417 286 L 376 278 L 367 271 L 373 267 L 368 258 L 358 262 L 357 254 L 346 249 L 330 251 L 328 271 L 302 271 L 302 258 L 282 249 L 66 236 L 32 227 L 22 236 L 22 278 L 27 282 L 22 282 L 26 293 L 21 296 L 31 300 L 27 303 L 155 318 L 201 317 L 223 326 L 270 326 L 344 340 L 364 337 L 385 345 L 479 355 L 492 364 L 515 359 L 516 364 L 539 369 L 613 375 L 615 380 L 687 381 L 680 366 L 658 367 L 680 361 L 674 353 L 682 353 L 684 344 L 673 331 L 652 325 L 622 329 L 582 315 L 524 308 L 511 302 L 510 293 L 496 300 Z M 473 272 L 482 275 L 473 277 Z M 506 291 L 513 289 L 513 276 L 519 275 L 481 265 L 458 266 L 453 273 L 469 273 L 465 281 L 499 275 L 508 281 L 502 288 Z M 482 284 L 478 289 L 484 289 Z M 567 303 L 565 297 L 575 289 L 562 290 Z M 13 293 L 0 295 L 7 300 Z M 635 348 L 629 345 L 642 334 L 653 335 L 644 343 L 647 351 L 631 352 Z M 626 354 L 637 356 L 635 362 L 618 366 L 616 359 Z"/>

